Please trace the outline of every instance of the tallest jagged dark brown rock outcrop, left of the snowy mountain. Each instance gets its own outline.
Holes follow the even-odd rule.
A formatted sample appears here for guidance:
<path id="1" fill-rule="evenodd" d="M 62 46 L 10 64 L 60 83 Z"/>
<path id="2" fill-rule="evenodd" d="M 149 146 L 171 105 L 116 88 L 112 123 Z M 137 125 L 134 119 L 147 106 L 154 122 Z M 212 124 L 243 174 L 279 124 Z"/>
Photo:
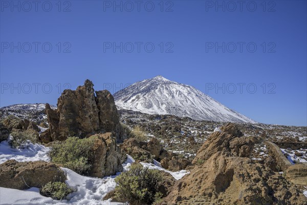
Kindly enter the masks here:
<path id="1" fill-rule="evenodd" d="M 85 80 L 83 86 L 64 90 L 58 98 L 57 109 L 46 104 L 49 129 L 41 133 L 43 142 L 65 140 L 69 136 L 89 137 L 96 133 L 113 132 L 117 142 L 126 135 L 119 122 L 114 98 L 108 91 L 96 91 L 93 83 Z"/>

